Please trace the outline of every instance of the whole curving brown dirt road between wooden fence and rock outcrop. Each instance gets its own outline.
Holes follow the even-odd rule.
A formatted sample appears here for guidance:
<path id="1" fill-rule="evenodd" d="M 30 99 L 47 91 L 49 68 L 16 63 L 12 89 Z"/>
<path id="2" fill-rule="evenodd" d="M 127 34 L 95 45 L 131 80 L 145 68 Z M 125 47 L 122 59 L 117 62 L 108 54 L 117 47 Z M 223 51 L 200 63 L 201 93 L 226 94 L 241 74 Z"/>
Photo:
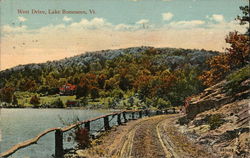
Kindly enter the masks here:
<path id="1" fill-rule="evenodd" d="M 90 158 L 188 158 L 212 157 L 175 128 L 178 115 L 159 115 L 133 120 L 115 127 L 93 142 L 93 147 L 78 150 Z"/>

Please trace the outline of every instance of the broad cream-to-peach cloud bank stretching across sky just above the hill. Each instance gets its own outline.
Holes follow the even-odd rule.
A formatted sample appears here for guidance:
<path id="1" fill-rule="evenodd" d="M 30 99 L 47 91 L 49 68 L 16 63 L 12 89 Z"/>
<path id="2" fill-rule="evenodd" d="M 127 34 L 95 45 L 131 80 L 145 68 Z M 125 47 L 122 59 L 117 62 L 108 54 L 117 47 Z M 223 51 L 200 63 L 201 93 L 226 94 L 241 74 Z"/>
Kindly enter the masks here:
<path id="1" fill-rule="evenodd" d="M 147 19 L 141 19 L 133 25 L 114 25 L 104 18 L 93 18 L 81 19 L 70 25 L 62 23 L 38 29 L 5 25 L 1 28 L 2 69 L 62 59 L 86 51 L 141 45 L 222 51 L 223 47 L 227 47 L 225 36 L 229 31 L 245 31 L 245 26 L 235 21 L 173 21 L 163 27 L 152 25 L 153 29 L 142 27 L 140 23 L 143 22 L 147 22 Z"/>

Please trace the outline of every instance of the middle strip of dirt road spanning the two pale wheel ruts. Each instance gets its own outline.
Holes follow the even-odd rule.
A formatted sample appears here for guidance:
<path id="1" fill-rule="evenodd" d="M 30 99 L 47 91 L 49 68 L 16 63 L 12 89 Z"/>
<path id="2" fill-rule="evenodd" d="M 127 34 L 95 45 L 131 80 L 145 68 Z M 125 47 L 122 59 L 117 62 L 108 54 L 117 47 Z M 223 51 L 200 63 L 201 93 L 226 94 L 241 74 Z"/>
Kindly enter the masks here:
<path id="1" fill-rule="evenodd" d="M 162 158 L 172 157 L 168 147 L 163 143 L 160 133 L 160 122 L 164 121 L 166 116 L 156 116 L 137 124 L 127 134 L 120 155 L 120 158 Z"/>

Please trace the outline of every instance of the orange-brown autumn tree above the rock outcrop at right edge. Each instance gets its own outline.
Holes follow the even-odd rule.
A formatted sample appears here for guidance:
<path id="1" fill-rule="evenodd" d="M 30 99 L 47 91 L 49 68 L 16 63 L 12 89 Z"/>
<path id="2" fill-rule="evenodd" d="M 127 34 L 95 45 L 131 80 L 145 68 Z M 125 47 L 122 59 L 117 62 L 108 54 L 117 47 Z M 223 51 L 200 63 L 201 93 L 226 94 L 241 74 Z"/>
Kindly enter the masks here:
<path id="1" fill-rule="evenodd" d="M 243 16 L 238 16 L 240 25 L 248 25 L 247 32 L 230 32 L 226 43 L 230 45 L 226 53 L 215 56 L 207 61 L 209 70 L 199 77 L 204 85 L 211 86 L 222 80 L 232 70 L 241 68 L 250 63 L 250 36 L 249 36 L 249 6 L 241 6 Z"/>

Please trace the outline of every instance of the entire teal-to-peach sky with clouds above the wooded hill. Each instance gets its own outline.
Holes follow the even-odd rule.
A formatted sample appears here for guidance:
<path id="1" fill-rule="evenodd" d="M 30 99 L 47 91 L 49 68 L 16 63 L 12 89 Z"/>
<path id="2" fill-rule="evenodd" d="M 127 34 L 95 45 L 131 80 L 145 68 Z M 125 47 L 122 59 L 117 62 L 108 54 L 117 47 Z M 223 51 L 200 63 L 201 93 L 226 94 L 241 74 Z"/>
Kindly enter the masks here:
<path id="1" fill-rule="evenodd" d="M 246 30 L 235 17 L 248 2 L 0 0 L 0 70 L 136 46 L 225 51 L 227 34 Z"/>

